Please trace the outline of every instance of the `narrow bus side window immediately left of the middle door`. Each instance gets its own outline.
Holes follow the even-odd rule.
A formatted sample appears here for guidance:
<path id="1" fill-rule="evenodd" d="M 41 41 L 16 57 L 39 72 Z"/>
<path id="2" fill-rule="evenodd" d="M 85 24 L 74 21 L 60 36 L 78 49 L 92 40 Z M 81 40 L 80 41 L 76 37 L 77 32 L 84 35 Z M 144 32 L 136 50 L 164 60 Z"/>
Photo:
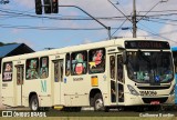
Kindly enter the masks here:
<path id="1" fill-rule="evenodd" d="M 42 57 L 40 59 L 40 78 L 44 79 L 49 76 L 49 58 Z"/>

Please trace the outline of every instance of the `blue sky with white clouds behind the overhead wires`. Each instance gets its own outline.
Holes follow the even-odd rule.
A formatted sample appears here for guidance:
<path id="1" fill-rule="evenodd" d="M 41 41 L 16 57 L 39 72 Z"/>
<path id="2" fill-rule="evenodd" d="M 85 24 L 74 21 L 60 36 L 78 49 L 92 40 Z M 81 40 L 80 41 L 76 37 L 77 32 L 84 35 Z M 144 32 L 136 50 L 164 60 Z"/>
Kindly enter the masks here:
<path id="1" fill-rule="evenodd" d="M 0 4 L 1 42 L 25 43 L 41 51 L 108 40 L 108 31 L 76 8 L 59 7 L 59 13 L 39 16 L 34 0 L 9 1 Z M 168 40 L 177 46 L 177 1 L 163 1 L 166 2 L 136 0 L 137 37 Z M 111 27 L 112 37 L 133 37 L 133 0 L 59 0 L 59 4 L 82 8 L 105 27 Z"/>

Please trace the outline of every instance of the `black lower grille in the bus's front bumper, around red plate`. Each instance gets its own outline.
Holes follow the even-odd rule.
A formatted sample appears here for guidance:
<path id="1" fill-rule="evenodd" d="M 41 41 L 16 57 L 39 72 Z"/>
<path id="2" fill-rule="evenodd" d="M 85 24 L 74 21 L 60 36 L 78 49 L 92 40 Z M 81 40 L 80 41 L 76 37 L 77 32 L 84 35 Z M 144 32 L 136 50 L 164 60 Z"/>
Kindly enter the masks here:
<path id="1" fill-rule="evenodd" d="M 150 103 L 152 101 L 159 101 L 159 103 L 164 103 L 167 101 L 168 97 L 163 98 L 142 98 L 145 103 Z"/>

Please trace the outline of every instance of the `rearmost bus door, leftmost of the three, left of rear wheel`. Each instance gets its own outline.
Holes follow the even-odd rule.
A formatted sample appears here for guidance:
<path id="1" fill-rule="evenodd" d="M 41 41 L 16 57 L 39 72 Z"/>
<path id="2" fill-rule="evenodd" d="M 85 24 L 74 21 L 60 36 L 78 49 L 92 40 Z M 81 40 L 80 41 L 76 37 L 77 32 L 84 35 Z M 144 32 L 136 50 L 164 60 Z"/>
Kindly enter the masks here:
<path id="1" fill-rule="evenodd" d="M 22 89 L 23 89 L 23 80 L 24 80 L 24 66 L 20 64 L 20 66 L 15 66 L 17 69 L 17 89 L 15 89 L 15 103 L 17 106 L 22 106 Z"/>

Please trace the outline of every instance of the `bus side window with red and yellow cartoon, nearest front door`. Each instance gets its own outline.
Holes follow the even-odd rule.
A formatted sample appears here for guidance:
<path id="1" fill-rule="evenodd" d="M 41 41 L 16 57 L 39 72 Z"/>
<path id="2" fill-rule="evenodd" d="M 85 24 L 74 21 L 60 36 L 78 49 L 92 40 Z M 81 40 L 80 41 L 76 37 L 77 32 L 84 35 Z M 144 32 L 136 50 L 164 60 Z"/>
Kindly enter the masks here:
<path id="1" fill-rule="evenodd" d="M 105 71 L 105 49 L 94 49 L 88 52 L 90 73 L 102 73 Z"/>

